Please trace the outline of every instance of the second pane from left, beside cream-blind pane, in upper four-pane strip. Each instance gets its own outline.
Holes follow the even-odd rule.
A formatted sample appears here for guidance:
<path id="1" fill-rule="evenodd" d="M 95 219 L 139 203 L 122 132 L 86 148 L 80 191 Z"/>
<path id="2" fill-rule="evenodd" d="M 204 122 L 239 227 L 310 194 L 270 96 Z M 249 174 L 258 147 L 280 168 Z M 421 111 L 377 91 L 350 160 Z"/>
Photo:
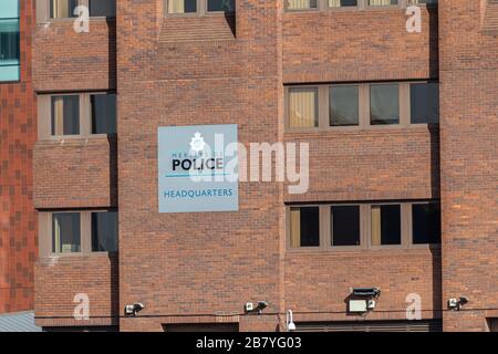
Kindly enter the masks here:
<path id="1" fill-rule="evenodd" d="M 331 126 L 359 125 L 359 86 L 341 85 L 329 88 Z"/>

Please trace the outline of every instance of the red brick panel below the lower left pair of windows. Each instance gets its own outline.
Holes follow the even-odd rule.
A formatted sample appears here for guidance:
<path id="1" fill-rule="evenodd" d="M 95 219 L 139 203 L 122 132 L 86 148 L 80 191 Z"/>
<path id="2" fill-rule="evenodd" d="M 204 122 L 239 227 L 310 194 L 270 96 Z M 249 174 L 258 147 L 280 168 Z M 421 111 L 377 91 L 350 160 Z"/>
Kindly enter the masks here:
<path id="1" fill-rule="evenodd" d="M 105 253 L 43 258 L 35 266 L 39 326 L 116 325 L 117 257 Z M 90 320 L 76 321 L 76 294 L 89 296 Z"/>

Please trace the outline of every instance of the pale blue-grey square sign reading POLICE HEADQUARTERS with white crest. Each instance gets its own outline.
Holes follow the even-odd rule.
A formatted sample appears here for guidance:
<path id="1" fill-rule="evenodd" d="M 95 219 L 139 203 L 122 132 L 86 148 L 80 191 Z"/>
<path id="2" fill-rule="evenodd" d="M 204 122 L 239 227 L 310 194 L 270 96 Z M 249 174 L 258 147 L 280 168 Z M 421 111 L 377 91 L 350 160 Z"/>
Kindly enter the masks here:
<path id="1" fill-rule="evenodd" d="M 238 210 L 237 168 L 237 125 L 159 127 L 159 212 Z"/>

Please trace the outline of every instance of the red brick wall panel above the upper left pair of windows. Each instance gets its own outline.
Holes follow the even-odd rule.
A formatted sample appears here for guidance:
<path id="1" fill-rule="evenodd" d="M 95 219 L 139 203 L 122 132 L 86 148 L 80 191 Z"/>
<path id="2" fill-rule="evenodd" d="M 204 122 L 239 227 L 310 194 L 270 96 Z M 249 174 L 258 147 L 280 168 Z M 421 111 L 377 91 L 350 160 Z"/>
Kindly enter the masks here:
<path id="1" fill-rule="evenodd" d="M 92 19 L 89 33 L 76 33 L 73 22 L 63 19 L 37 24 L 33 33 L 37 92 L 115 88 L 115 22 Z"/>

